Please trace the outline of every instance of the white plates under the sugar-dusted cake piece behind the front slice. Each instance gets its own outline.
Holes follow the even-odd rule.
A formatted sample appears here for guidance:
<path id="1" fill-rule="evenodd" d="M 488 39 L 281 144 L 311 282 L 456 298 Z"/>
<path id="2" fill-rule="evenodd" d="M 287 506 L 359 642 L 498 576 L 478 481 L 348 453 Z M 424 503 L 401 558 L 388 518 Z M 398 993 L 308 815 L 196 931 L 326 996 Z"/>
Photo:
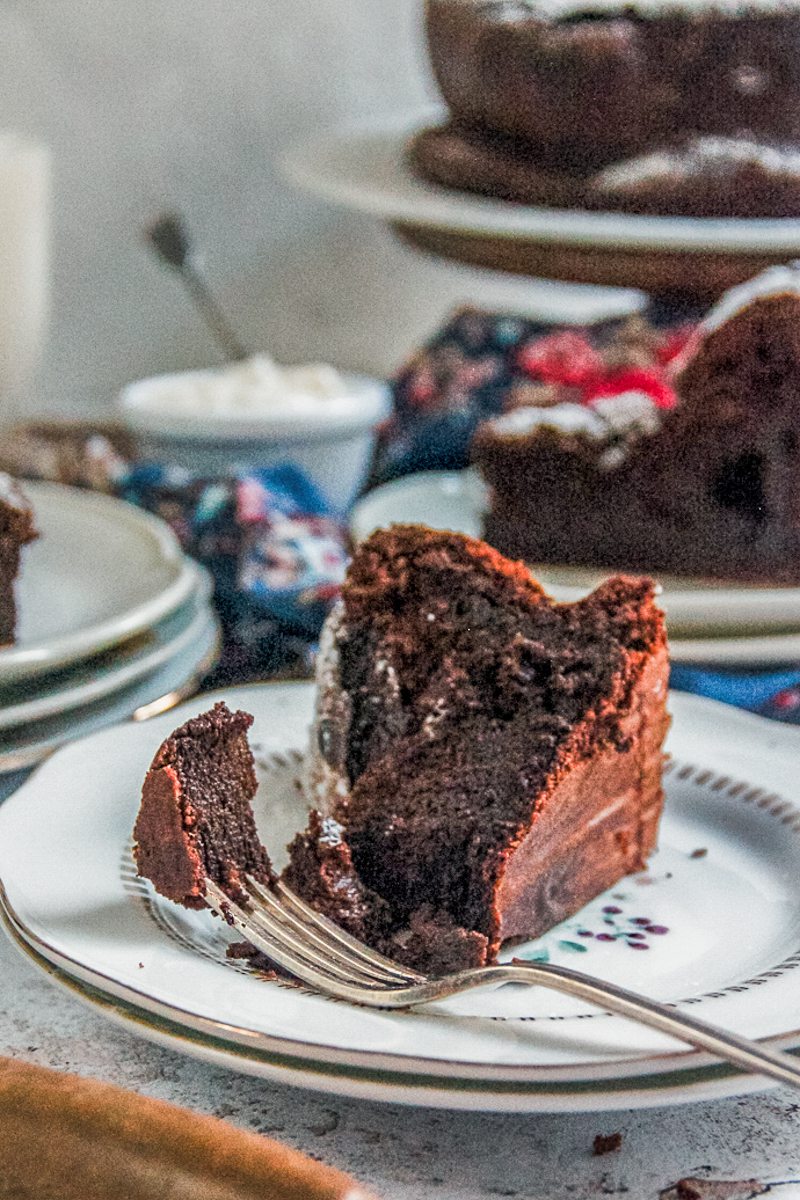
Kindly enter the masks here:
<path id="1" fill-rule="evenodd" d="M 350 514 L 350 533 L 361 541 L 373 529 L 392 522 L 420 522 L 480 538 L 485 505 L 483 486 L 471 469 L 420 472 L 367 492 Z M 557 600 L 578 600 L 610 574 L 542 564 L 535 564 L 533 571 Z M 718 661 L 747 661 L 748 652 L 738 647 L 756 635 L 762 635 L 760 652 L 769 655 L 771 648 L 772 653 L 781 653 L 771 638 L 764 644 L 763 635 L 796 637 L 800 630 L 800 588 L 728 586 L 669 576 L 660 577 L 660 604 L 667 613 L 676 661 L 698 661 L 703 655 L 705 661 L 717 660 L 715 655 L 722 655 Z M 727 647 L 711 646 L 717 637 L 726 638 Z M 741 658 L 736 658 L 739 653 Z"/>

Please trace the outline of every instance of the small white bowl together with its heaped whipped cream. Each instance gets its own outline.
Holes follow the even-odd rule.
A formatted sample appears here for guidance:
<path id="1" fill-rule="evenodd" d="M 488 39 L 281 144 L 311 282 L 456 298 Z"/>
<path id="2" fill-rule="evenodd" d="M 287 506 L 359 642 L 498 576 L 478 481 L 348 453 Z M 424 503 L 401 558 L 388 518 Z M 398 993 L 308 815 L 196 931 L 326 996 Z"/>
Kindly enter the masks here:
<path id="1" fill-rule="evenodd" d="M 363 482 L 391 395 L 368 376 L 257 354 L 139 379 L 118 409 L 149 457 L 209 474 L 289 463 L 343 510 Z"/>

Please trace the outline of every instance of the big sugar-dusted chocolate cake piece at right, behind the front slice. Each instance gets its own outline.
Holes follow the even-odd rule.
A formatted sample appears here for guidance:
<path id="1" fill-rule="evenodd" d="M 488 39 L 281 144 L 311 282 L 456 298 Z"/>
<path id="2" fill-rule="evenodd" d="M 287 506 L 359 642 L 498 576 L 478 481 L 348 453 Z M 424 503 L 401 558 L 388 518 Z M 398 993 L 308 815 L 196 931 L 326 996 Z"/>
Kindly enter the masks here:
<path id="1" fill-rule="evenodd" d="M 800 582 L 800 266 L 728 293 L 669 365 L 485 422 L 487 540 L 530 563 Z"/>

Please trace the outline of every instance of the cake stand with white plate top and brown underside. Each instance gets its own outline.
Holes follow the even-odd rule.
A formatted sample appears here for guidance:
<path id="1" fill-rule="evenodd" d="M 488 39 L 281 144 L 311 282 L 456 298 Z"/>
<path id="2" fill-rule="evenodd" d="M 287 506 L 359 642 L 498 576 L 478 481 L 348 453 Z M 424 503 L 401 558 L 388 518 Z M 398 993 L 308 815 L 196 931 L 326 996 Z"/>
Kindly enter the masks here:
<path id="1" fill-rule="evenodd" d="M 774 263 L 800 256 L 800 220 L 654 217 L 545 209 L 455 192 L 417 179 L 414 132 L 439 109 L 324 133 L 283 158 L 287 178 L 379 217 L 429 253 L 572 283 L 688 293 L 710 300 Z"/>

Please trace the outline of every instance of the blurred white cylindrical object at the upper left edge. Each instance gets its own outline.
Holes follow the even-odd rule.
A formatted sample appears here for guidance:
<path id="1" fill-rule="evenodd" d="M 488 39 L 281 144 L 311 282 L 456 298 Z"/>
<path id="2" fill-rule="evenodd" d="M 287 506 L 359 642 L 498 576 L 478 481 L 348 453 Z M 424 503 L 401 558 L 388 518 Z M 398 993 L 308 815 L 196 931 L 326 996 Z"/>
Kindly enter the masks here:
<path id="1" fill-rule="evenodd" d="M 0 131 L 0 421 L 19 416 L 48 313 L 50 155 Z"/>

